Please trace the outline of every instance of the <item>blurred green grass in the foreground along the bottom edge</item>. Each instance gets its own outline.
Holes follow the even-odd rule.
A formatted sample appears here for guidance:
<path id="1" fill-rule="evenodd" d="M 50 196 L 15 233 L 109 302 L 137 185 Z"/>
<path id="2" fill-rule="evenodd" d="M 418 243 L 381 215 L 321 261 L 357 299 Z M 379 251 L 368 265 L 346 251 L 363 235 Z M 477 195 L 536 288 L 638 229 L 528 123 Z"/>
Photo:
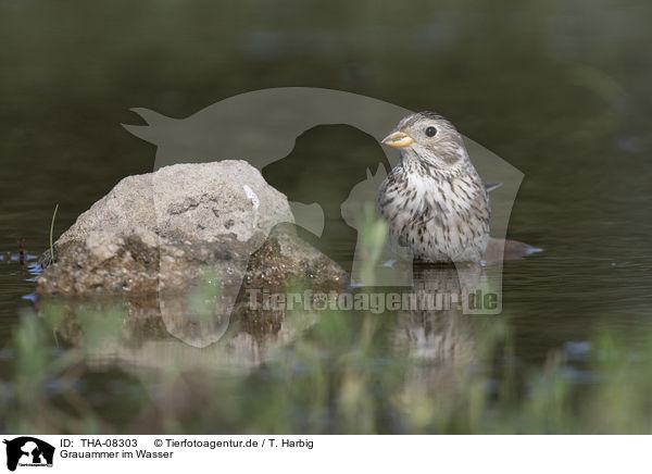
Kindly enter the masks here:
<path id="1" fill-rule="evenodd" d="M 468 317 L 468 316 L 460 316 Z M 247 373 L 93 363 L 121 341 L 120 309 L 79 305 L 79 338 L 60 307 L 22 315 L 12 382 L 0 391 L 10 433 L 650 433 L 652 335 L 628 347 L 616 334 L 551 352 L 515 371 L 505 319 L 477 320 L 471 361 L 414 357 L 387 337 L 389 314 L 289 316 L 300 338 Z M 129 342 L 122 340 L 121 344 Z M 201 351 L 201 349 L 196 349 Z M 389 357 L 391 354 L 391 357 Z M 208 356 L 208 354 L 206 354 Z M 97 362 L 97 360 L 95 361 Z M 134 370 L 136 369 L 136 370 Z M 432 373 L 439 373 L 431 376 Z M 516 374 L 522 374 L 517 376 Z M 135 375 L 136 374 L 136 375 Z M 102 382 L 103 381 L 103 382 Z M 578 383 L 579 382 L 579 383 Z"/>

